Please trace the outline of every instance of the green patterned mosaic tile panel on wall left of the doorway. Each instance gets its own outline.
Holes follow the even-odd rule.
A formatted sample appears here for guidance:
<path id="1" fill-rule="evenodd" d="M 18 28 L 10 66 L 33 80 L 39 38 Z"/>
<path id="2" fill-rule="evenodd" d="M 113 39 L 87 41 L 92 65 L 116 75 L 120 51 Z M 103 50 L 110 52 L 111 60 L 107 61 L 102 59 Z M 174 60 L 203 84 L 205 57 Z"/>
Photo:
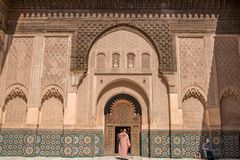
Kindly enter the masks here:
<path id="1" fill-rule="evenodd" d="M 2 129 L 0 156 L 99 157 L 103 156 L 103 132 Z"/>

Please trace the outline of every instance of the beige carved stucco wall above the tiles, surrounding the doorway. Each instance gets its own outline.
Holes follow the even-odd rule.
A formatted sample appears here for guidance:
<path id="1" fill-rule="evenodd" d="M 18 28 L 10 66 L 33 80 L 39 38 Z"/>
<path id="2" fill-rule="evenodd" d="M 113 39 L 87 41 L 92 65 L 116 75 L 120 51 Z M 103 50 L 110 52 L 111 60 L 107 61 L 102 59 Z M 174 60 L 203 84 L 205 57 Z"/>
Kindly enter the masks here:
<path id="1" fill-rule="evenodd" d="M 177 65 L 175 71 L 160 73 L 159 62 L 167 58 L 157 53 L 150 39 L 155 35 L 149 38 L 127 26 L 99 34 L 88 57 L 84 57 L 88 62 L 86 72 L 70 70 L 71 53 L 77 52 L 76 46 L 86 43 L 76 41 L 76 21 L 71 22 L 74 26 L 69 30 L 55 32 L 54 26 L 63 27 L 65 18 L 87 18 L 74 16 L 59 20 L 58 14 L 50 14 L 55 21 L 46 23 L 52 24 L 52 30 L 27 32 L 24 25 L 39 24 L 39 29 L 47 18 L 24 15 L 15 34 L 1 31 L 3 126 L 104 129 L 108 100 L 117 94 L 129 94 L 141 105 L 142 129 L 239 128 L 239 35 L 215 35 L 216 17 L 155 17 L 159 23 L 172 22 L 173 46 L 169 47 L 176 54 Z M 103 15 L 92 16 L 88 18 L 95 21 Z M 139 16 L 143 18 L 144 14 Z M 118 21 L 123 17 L 114 14 L 112 18 Z M 177 23 L 178 19 L 183 20 L 182 24 Z M 197 31 L 193 32 L 194 29 Z M 16 108 L 19 104 L 22 108 Z"/>

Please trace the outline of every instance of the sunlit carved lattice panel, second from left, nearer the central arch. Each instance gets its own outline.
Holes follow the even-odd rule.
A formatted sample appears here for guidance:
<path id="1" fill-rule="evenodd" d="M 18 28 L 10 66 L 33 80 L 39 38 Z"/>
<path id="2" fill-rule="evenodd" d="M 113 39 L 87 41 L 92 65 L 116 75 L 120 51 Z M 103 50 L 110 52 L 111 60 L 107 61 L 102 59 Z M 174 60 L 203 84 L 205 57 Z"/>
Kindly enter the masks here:
<path id="1" fill-rule="evenodd" d="M 65 88 L 68 69 L 68 37 L 47 37 L 43 60 L 42 88 L 56 84 Z"/>

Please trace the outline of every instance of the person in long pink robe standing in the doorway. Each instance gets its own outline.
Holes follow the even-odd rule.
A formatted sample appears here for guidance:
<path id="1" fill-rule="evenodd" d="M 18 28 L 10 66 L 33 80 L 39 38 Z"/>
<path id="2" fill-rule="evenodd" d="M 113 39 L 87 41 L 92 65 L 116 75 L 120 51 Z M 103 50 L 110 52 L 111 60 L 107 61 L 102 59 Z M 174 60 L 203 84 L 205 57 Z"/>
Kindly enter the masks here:
<path id="1" fill-rule="evenodd" d="M 131 146 L 126 129 L 123 129 L 123 131 L 118 134 L 118 139 L 118 153 L 120 155 L 120 158 L 124 159 L 127 156 L 128 148 Z"/>

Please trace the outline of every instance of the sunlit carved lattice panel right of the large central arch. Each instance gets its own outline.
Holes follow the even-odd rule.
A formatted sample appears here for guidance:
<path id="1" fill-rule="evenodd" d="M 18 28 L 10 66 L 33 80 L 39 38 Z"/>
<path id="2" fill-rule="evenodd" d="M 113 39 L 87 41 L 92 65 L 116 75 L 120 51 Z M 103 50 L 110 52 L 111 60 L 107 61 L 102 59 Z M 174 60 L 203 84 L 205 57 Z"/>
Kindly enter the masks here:
<path id="1" fill-rule="evenodd" d="M 179 38 L 182 90 L 190 85 L 206 88 L 203 38 Z"/>

